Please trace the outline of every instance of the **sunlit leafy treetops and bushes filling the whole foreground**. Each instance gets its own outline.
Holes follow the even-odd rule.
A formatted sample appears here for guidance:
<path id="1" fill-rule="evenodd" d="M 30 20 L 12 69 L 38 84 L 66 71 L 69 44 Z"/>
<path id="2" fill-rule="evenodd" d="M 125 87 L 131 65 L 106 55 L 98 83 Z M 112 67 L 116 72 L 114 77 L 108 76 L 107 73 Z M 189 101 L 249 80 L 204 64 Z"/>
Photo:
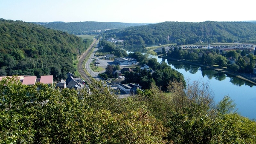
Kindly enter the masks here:
<path id="1" fill-rule="evenodd" d="M 256 122 L 236 114 L 228 96 L 214 104 L 209 85 L 200 81 L 185 91 L 174 81 L 170 94 L 152 85 L 122 99 L 101 82 L 89 87 L 60 92 L 3 79 L 0 143 L 256 143 Z"/>

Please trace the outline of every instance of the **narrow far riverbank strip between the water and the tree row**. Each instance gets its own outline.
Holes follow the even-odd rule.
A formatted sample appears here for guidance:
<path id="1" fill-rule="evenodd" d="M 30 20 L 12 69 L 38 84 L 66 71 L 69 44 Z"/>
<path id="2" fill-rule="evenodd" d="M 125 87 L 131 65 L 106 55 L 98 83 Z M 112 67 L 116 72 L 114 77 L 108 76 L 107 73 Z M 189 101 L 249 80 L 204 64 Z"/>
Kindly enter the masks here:
<path id="1" fill-rule="evenodd" d="M 169 57 L 166 57 L 166 56 L 163 56 L 163 55 L 157 55 L 157 56 L 160 57 L 160 58 L 166 58 L 166 59 L 169 59 L 169 60 L 176 60 L 176 61 L 180 61 L 180 62 L 183 62 L 183 63 L 189 63 L 189 64 L 192 64 L 192 65 L 205 67 L 205 68 L 208 68 L 208 69 L 213 69 L 213 70 L 218 71 L 218 72 L 223 72 L 224 74 L 231 75 L 231 76 L 236 77 L 236 78 L 240 78 L 240 79 L 242 79 L 244 81 L 247 81 L 247 82 L 256 86 L 256 77 L 251 77 L 251 76 L 248 77 L 247 76 L 248 74 L 246 75 L 246 74 L 232 72 L 228 69 L 224 69 L 224 68 L 219 67 L 219 66 L 208 66 L 208 65 L 201 64 L 201 63 L 191 62 L 191 61 L 188 61 L 188 60 L 179 60 L 179 59 L 176 59 L 176 58 L 169 58 Z"/>

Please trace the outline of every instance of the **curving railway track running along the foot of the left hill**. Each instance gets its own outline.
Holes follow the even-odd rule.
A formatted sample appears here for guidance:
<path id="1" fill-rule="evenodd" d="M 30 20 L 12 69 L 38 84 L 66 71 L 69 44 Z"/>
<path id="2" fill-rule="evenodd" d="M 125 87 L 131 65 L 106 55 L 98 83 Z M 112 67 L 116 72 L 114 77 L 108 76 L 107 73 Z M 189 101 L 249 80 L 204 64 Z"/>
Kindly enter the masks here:
<path id="1" fill-rule="evenodd" d="M 92 78 L 90 77 L 90 75 L 87 75 L 86 72 L 84 72 L 83 62 L 84 62 L 84 59 L 87 57 L 87 55 L 90 53 L 90 50 L 93 48 L 95 43 L 96 43 L 96 39 L 93 40 L 93 43 L 84 52 L 84 54 L 82 55 L 82 58 L 80 58 L 77 65 L 78 72 L 80 73 L 81 77 L 84 78 L 85 81 L 87 81 L 87 84 L 92 84 Z"/>

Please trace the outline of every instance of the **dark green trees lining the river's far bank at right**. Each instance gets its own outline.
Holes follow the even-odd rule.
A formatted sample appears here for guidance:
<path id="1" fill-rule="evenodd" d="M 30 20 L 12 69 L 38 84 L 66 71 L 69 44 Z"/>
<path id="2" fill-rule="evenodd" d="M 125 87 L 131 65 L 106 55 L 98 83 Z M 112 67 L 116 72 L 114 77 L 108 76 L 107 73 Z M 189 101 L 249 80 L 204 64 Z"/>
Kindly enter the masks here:
<path id="1" fill-rule="evenodd" d="M 256 57 L 249 50 L 230 50 L 220 53 L 219 49 L 181 49 L 175 46 L 168 51 L 167 56 L 207 65 L 227 66 L 234 72 L 250 73 L 256 65 Z"/>

